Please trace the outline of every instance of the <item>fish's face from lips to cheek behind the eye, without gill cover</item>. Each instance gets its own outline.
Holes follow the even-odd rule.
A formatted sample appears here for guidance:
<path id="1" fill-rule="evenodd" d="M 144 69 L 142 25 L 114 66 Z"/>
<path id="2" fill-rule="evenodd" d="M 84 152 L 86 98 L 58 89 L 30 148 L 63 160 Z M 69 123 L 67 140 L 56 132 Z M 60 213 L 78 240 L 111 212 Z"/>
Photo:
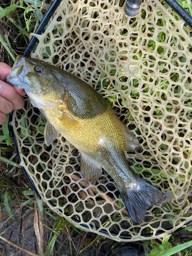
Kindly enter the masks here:
<path id="1" fill-rule="evenodd" d="M 7 82 L 18 88 L 39 94 L 51 86 L 52 74 L 48 72 L 46 62 L 18 55 Z"/>

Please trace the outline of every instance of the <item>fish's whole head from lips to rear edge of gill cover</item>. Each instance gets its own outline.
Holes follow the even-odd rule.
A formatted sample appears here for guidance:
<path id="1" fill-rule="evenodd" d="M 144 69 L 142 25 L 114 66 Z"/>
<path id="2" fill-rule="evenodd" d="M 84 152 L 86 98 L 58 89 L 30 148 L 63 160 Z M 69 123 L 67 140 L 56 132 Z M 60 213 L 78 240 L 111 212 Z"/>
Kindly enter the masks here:
<path id="1" fill-rule="evenodd" d="M 6 79 L 12 86 L 25 89 L 36 108 L 50 108 L 61 104 L 65 93 L 58 70 L 45 61 L 18 55 Z"/>

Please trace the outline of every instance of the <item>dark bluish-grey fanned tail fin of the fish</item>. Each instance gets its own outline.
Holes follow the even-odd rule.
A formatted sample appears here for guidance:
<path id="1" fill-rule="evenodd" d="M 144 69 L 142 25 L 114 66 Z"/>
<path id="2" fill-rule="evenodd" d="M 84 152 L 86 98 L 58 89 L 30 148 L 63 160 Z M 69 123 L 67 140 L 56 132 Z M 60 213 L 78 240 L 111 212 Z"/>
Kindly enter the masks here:
<path id="1" fill-rule="evenodd" d="M 156 187 L 137 177 L 137 185 L 121 190 L 121 197 L 131 219 L 141 222 L 146 210 L 152 205 L 159 205 L 166 196 Z"/>

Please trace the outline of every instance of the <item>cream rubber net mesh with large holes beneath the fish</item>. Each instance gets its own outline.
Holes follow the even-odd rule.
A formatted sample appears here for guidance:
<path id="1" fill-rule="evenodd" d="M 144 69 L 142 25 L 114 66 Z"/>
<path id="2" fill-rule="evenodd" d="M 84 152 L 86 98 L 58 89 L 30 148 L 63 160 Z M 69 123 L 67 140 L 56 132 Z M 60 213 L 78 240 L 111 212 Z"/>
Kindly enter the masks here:
<path id="1" fill-rule="evenodd" d="M 144 1 L 136 17 L 118 0 L 75 2 L 61 3 L 31 57 L 80 77 L 108 101 L 142 143 L 140 154 L 126 153 L 134 172 L 169 196 L 134 225 L 107 173 L 87 183 L 72 144 L 60 136 L 46 146 L 46 120 L 28 101 L 12 121 L 21 164 L 42 201 L 76 227 L 117 241 L 165 237 L 191 219 L 190 30 L 156 0 Z"/>

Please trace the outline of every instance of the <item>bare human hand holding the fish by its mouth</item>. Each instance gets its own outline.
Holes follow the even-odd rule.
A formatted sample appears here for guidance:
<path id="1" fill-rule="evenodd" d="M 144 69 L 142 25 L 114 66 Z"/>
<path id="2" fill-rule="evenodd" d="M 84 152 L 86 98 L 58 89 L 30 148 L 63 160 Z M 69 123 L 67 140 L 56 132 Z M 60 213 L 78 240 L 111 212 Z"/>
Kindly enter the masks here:
<path id="1" fill-rule="evenodd" d="M 4 62 L 0 62 L 0 124 L 6 121 L 6 114 L 24 107 L 22 96 L 26 95 L 25 90 L 5 82 L 10 70 L 11 67 Z"/>

